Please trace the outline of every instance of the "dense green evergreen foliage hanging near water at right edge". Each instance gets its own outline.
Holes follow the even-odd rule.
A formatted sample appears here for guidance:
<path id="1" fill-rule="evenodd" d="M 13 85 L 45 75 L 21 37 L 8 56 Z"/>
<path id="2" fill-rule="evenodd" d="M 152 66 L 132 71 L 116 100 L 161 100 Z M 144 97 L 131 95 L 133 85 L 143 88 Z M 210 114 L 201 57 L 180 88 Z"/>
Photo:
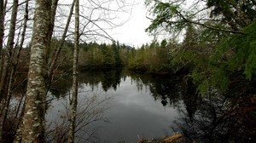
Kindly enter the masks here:
<path id="1" fill-rule="evenodd" d="M 247 26 L 244 31 L 246 31 L 246 35 L 230 35 L 218 44 L 218 48 L 208 59 L 207 68 L 201 69 L 201 72 L 197 71 L 201 77 L 196 76 L 195 72 L 195 80 L 203 81 L 199 84 L 202 93 L 211 87 L 225 91 L 230 83 L 238 78 L 255 80 L 255 23 Z M 237 73 L 239 74 L 237 75 Z M 236 75 L 235 78 L 234 75 Z"/>

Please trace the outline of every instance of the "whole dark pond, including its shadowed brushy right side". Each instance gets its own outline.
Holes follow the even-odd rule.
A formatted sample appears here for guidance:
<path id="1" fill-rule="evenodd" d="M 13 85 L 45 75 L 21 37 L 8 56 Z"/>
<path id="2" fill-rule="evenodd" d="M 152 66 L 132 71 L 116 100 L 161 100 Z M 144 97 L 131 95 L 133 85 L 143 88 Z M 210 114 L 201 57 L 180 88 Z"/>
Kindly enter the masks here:
<path id="1" fill-rule="evenodd" d="M 67 135 L 71 85 L 72 77 L 65 75 L 56 79 L 50 89 L 46 116 L 49 140 L 55 140 L 53 138 L 60 134 L 62 138 L 63 134 Z M 175 132 L 186 134 L 191 142 L 238 140 L 239 135 L 228 133 L 234 123 L 236 128 L 240 125 L 226 118 L 221 120 L 227 108 L 223 105 L 229 102 L 221 96 L 201 98 L 195 93 L 193 83 L 182 76 L 157 76 L 127 70 L 82 72 L 79 75 L 76 142 L 137 142 Z M 226 134 L 229 136 L 224 137 Z M 241 129 L 240 134 L 247 132 Z M 242 140 L 247 142 L 254 140 L 250 134 L 244 137 Z"/>

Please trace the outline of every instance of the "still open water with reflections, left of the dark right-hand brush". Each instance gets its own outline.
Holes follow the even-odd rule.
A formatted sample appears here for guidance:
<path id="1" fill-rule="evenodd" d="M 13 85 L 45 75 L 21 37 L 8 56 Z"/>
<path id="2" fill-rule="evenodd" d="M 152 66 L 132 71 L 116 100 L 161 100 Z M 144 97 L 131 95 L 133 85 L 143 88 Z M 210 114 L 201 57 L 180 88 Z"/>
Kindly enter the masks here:
<path id="1" fill-rule="evenodd" d="M 50 94 L 55 96 L 49 98 L 52 101 L 47 118 L 55 124 L 67 112 L 72 80 L 71 77 L 65 78 L 66 82 L 56 81 L 58 86 L 50 90 Z M 141 138 L 173 134 L 171 127 L 177 118 L 177 109 L 183 108 L 183 101 L 178 93 L 174 93 L 177 85 L 172 82 L 172 77 L 125 71 L 81 73 L 79 109 L 83 109 L 80 112 L 86 114 L 88 111 L 84 111 L 83 106 L 93 106 L 88 114 L 99 112 L 100 115 L 98 119 L 92 119 L 97 121 L 84 126 L 77 135 L 86 139 L 91 134 L 90 140 L 96 142 L 137 142 Z M 170 99 L 170 96 L 173 97 Z M 91 98 L 96 101 L 91 101 Z"/>

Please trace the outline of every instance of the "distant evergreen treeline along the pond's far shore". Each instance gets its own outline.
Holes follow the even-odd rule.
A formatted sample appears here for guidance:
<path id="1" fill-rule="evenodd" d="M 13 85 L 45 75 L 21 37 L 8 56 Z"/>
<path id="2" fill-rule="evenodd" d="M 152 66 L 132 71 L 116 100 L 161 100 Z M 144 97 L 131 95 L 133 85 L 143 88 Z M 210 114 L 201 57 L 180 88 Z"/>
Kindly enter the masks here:
<path id="1" fill-rule="evenodd" d="M 49 54 L 60 41 L 53 39 L 50 43 Z M 137 72 L 170 73 L 173 72 L 170 58 L 170 49 L 174 43 L 162 40 L 159 43 L 156 39 L 152 43 L 143 44 L 135 49 L 134 47 L 119 42 L 108 43 L 79 43 L 79 69 L 80 70 L 108 70 L 121 67 L 128 67 Z M 177 45 L 176 45 L 177 46 Z M 28 61 L 29 46 L 22 49 L 21 60 Z M 57 66 L 67 69 L 72 68 L 73 42 L 66 41 L 62 47 Z M 26 65 L 28 62 L 24 62 Z M 27 67 L 27 66 L 23 66 Z"/>

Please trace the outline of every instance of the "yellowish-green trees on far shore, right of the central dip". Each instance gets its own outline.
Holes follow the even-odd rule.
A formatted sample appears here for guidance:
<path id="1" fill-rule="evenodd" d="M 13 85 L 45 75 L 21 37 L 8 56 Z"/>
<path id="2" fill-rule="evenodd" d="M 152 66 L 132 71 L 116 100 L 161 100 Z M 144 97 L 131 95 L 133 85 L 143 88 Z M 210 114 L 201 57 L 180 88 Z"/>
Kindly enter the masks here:
<path id="1" fill-rule="evenodd" d="M 143 45 L 141 49 L 131 49 L 128 67 L 137 71 L 172 72 L 169 56 L 171 45 L 166 40 L 158 43 L 154 39 L 150 45 Z"/>

